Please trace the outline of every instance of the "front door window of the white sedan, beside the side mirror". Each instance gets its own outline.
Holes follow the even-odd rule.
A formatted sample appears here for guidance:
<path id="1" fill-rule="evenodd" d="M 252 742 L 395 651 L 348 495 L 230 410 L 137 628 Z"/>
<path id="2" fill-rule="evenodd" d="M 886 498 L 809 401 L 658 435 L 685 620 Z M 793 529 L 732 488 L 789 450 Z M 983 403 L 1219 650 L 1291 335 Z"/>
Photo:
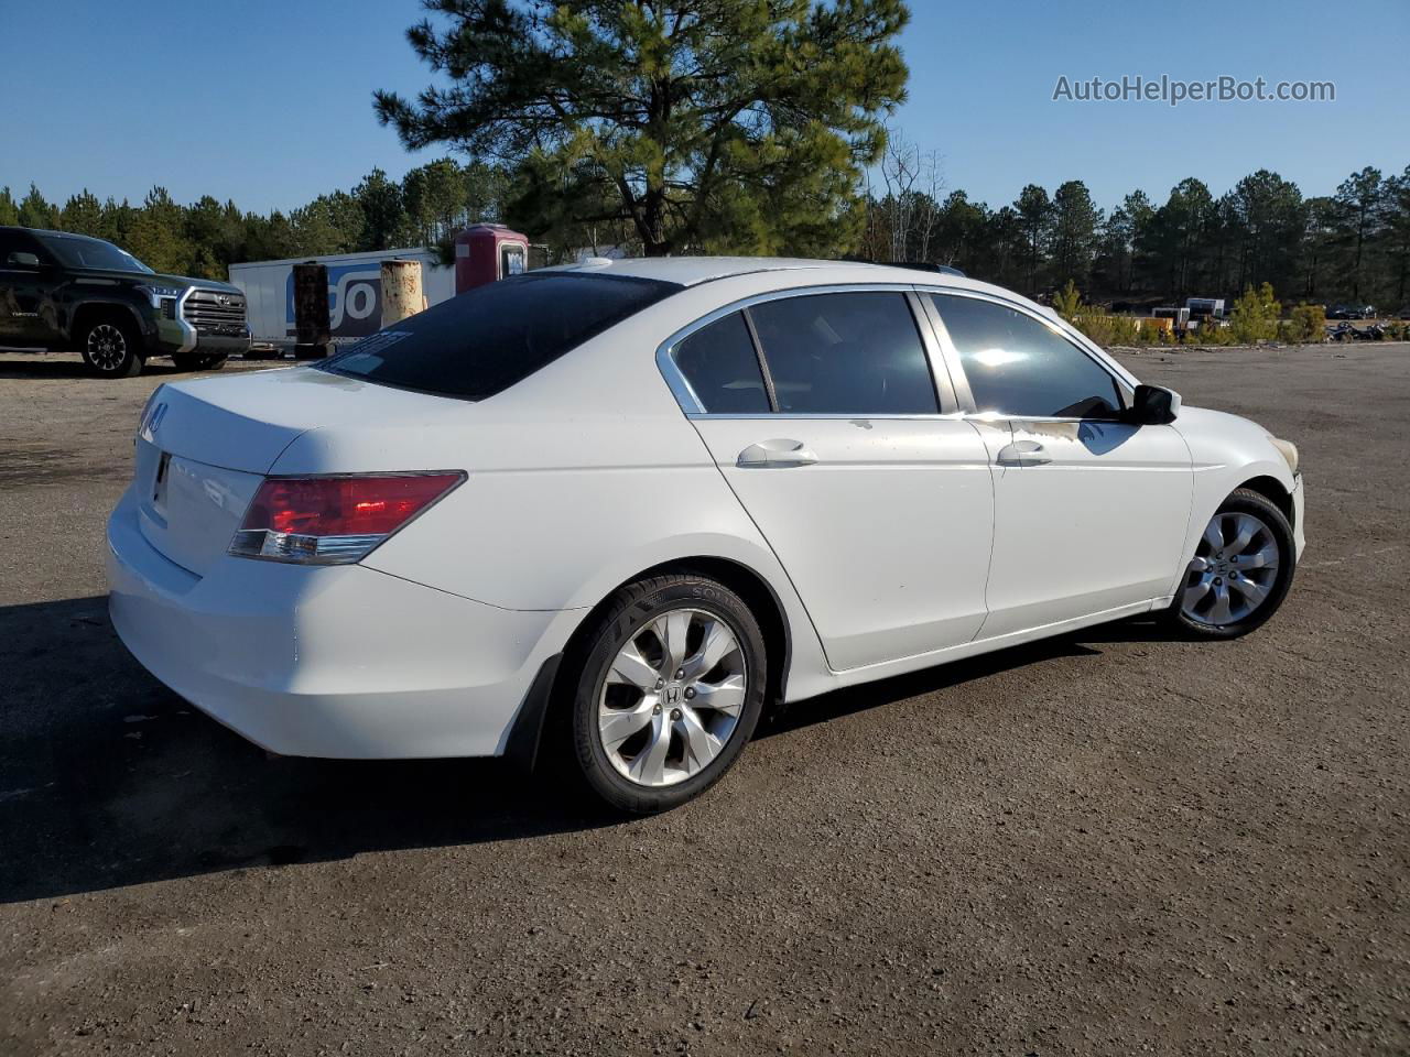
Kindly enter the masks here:
<path id="1" fill-rule="evenodd" d="M 1024 419 L 1114 419 L 1115 379 L 1032 316 L 979 297 L 931 295 L 960 354 L 974 410 Z"/>

